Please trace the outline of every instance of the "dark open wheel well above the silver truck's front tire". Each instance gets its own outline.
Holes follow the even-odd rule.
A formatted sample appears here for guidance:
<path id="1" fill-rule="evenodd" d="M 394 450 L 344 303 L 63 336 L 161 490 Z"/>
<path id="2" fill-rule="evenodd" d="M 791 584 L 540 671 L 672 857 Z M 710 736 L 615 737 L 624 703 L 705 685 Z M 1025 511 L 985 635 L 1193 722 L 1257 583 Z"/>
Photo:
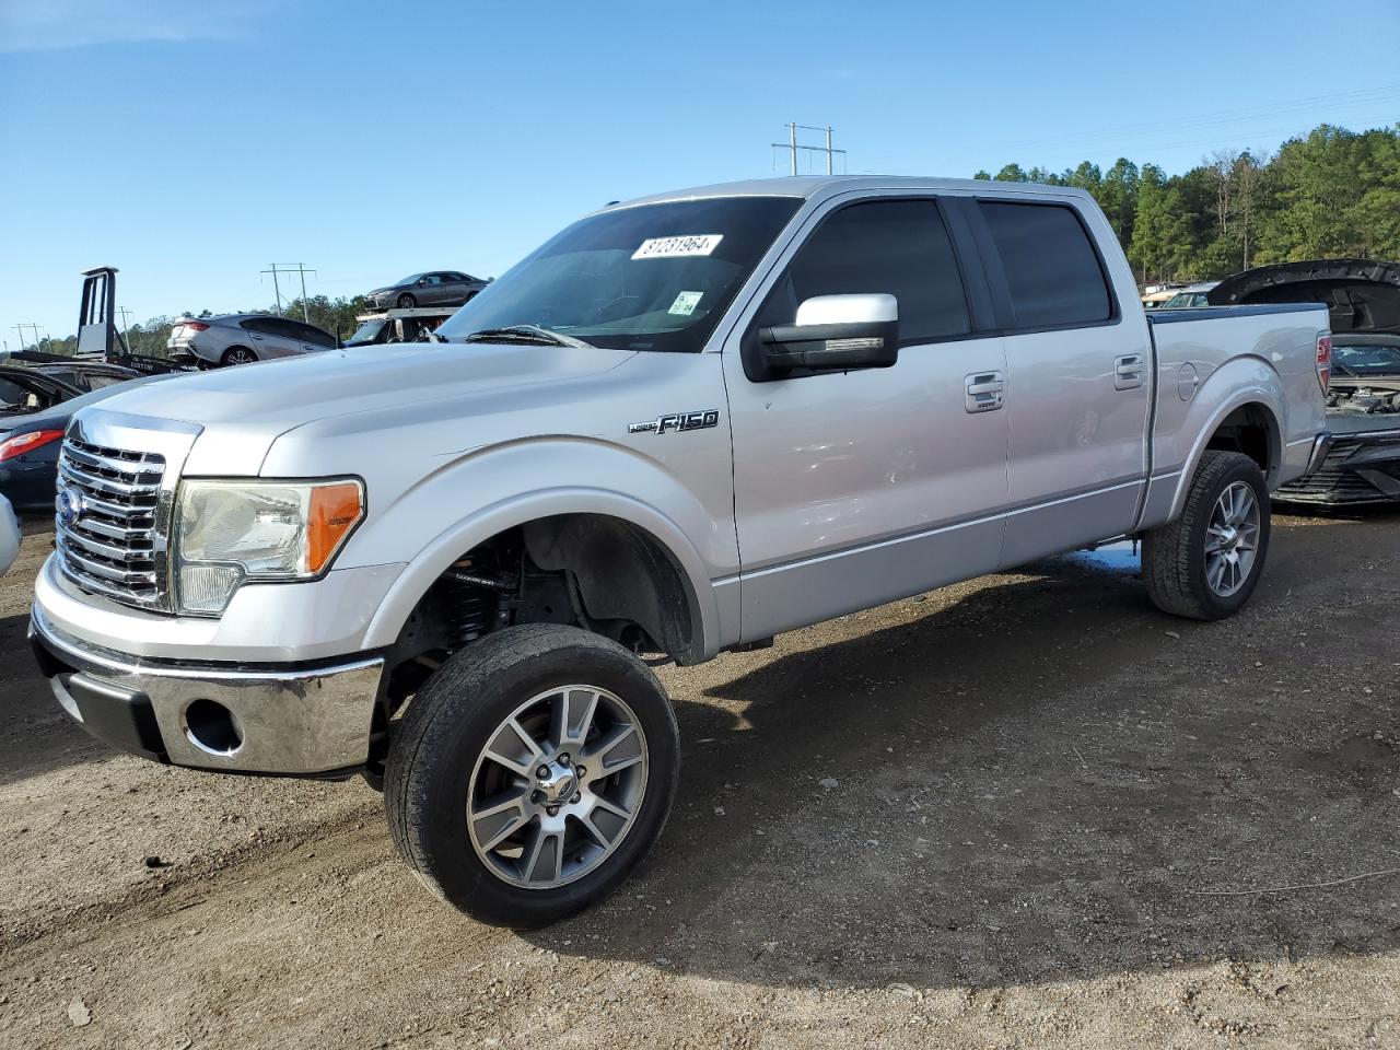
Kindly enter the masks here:
<path id="1" fill-rule="evenodd" d="M 517 623 L 573 624 L 679 664 L 704 651 L 699 606 L 655 538 L 602 514 L 540 518 L 463 552 L 419 599 L 386 661 L 391 710 L 454 651 Z"/>

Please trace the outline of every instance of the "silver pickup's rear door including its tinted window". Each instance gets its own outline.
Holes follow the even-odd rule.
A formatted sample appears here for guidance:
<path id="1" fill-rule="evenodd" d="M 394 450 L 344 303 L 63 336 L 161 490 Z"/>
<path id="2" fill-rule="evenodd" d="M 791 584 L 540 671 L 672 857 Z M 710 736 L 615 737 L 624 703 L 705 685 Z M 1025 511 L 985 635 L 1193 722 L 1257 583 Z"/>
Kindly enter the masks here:
<path id="1" fill-rule="evenodd" d="M 1151 337 L 1113 294 L 1095 245 L 1113 237 L 1102 216 L 1071 202 L 980 197 L 969 218 L 1005 333 L 1009 568 L 1133 528 L 1147 480 Z"/>

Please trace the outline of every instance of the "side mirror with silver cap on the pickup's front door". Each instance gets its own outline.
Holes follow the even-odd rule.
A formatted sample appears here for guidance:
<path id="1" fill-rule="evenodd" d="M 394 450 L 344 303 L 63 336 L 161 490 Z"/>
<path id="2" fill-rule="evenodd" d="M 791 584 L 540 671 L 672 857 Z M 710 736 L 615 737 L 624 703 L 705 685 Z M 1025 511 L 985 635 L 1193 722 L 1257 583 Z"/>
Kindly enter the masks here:
<path id="1" fill-rule="evenodd" d="M 773 372 L 889 368 L 899 358 L 899 301 L 881 293 L 816 295 L 791 325 L 759 329 L 759 343 Z"/>

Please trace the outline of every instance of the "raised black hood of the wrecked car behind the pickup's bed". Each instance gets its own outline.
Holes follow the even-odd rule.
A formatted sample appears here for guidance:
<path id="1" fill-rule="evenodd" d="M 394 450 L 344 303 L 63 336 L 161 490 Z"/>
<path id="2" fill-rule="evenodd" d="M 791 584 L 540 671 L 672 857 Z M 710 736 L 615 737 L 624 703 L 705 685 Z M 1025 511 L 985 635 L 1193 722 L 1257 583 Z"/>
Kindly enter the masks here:
<path id="1" fill-rule="evenodd" d="M 1236 273 L 1207 295 L 1212 307 L 1322 302 L 1333 332 L 1400 335 L 1400 263 L 1313 259 Z"/>

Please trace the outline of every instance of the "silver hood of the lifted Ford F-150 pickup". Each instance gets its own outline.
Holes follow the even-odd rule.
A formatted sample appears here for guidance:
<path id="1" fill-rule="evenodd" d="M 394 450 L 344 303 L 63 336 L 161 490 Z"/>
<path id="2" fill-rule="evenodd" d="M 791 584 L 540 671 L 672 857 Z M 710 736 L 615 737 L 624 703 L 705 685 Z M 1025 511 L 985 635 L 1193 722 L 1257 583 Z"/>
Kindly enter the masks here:
<path id="1" fill-rule="evenodd" d="M 634 356 L 601 347 L 494 343 L 347 347 L 122 388 L 83 414 L 193 423 L 204 433 L 186 463 L 189 473 L 256 475 L 279 435 L 311 423 L 364 413 L 409 421 L 444 402 L 470 417 L 480 406 L 500 406 L 517 392 L 546 385 L 563 389 Z"/>

